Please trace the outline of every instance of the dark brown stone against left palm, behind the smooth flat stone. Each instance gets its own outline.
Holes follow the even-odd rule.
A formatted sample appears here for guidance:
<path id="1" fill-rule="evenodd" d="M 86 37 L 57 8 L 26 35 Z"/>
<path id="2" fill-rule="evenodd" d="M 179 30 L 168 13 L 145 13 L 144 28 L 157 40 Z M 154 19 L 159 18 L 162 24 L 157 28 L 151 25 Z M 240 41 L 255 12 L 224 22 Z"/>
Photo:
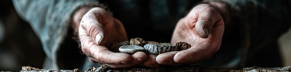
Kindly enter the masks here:
<path id="1" fill-rule="evenodd" d="M 116 42 L 116 43 L 110 44 L 108 49 L 112 52 L 119 52 L 120 46 L 125 46 L 125 45 L 129 45 L 129 44 L 130 44 L 129 41 Z"/>

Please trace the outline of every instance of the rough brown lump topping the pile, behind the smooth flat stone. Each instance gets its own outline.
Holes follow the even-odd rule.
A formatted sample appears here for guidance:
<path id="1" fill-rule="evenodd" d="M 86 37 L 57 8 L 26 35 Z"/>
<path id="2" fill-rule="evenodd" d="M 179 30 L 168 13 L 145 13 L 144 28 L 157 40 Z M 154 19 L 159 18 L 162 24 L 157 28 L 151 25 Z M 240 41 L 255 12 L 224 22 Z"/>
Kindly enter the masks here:
<path id="1" fill-rule="evenodd" d="M 143 40 L 142 38 L 132 38 L 130 39 L 130 45 L 144 46 L 146 45 L 146 41 Z"/>

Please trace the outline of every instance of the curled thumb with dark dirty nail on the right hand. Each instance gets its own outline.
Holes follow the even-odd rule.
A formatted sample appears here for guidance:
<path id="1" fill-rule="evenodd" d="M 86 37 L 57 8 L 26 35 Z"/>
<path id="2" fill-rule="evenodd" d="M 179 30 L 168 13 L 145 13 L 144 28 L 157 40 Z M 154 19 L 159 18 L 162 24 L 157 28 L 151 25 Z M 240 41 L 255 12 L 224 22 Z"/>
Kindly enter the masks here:
<path id="1" fill-rule="evenodd" d="M 196 16 L 193 17 L 192 15 Z M 219 19 L 222 19 L 219 12 L 209 4 L 197 5 L 189 13 L 188 18 L 189 24 L 194 23 L 193 25 L 195 25 L 196 33 L 201 38 L 208 38 L 214 24 Z M 197 20 L 197 22 L 195 22 L 195 20 Z"/>

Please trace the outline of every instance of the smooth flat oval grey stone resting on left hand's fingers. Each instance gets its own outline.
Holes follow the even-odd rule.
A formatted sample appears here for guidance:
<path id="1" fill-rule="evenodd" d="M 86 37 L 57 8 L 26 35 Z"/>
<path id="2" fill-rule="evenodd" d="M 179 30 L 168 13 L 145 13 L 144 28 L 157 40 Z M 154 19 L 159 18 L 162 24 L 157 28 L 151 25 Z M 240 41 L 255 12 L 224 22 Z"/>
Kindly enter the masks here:
<path id="1" fill-rule="evenodd" d="M 146 52 L 146 49 L 138 45 L 126 45 L 119 47 L 119 51 L 122 53 L 133 54 L 138 51 Z"/>

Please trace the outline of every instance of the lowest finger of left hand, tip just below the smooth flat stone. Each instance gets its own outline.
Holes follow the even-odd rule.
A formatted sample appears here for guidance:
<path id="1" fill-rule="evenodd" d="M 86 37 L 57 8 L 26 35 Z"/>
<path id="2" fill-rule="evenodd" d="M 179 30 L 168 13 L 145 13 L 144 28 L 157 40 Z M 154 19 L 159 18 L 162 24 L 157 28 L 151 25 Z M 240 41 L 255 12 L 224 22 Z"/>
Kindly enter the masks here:
<path id="1" fill-rule="evenodd" d="M 142 63 L 142 61 L 147 59 L 147 55 L 144 52 L 135 52 L 132 56 L 132 62 L 128 64 L 106 64 L 112 68 L 122 68 L 122 67 L 131 67 L 137 64 Z"/>

